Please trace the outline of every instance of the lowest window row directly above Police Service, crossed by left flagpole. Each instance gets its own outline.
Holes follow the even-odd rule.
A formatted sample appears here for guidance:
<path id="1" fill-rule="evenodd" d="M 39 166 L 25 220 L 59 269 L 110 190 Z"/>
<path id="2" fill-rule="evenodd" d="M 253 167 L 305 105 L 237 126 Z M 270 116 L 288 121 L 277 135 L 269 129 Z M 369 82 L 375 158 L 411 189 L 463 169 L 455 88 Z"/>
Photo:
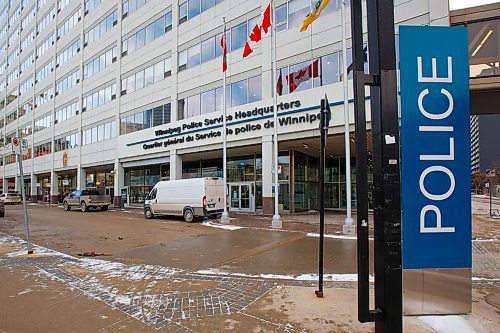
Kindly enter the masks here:
<path id="1" fill-rule="evenodd" d="M 257 75 L 226 86 L 226 104 L 232 107 L 262 99 L 262 77 Z M 216 88 L 178 101 L 178 117 L 186 119 L 222 109 L 222 88 Z"/>

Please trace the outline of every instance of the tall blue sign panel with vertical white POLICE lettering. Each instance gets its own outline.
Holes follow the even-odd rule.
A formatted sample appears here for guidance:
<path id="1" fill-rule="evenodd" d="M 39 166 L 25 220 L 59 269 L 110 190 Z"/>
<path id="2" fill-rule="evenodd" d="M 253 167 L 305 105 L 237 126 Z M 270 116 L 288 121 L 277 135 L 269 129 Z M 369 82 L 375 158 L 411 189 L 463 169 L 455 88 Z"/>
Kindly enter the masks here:
<path id="1" fill-rule="evenodd" d="M 399 31 L 403 268 L 471 268 L 467 30 Z"/>

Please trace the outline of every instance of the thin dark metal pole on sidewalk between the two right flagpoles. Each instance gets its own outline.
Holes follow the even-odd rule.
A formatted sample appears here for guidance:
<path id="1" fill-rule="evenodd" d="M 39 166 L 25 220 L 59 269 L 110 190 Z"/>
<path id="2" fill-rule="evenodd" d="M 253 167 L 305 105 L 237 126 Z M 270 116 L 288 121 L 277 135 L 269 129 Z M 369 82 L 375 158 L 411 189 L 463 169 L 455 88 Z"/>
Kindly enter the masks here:
<path id="1" fill-rule="evenodd" d="M 326 99 L 321 100 L 320 153 L 319 153 L 319 269 L 316 296 L 323 297 L 323 243 L 325 234 L 325 154 L 326 154 Z M 325 129 L 326 128 L 326 129 Z"/>

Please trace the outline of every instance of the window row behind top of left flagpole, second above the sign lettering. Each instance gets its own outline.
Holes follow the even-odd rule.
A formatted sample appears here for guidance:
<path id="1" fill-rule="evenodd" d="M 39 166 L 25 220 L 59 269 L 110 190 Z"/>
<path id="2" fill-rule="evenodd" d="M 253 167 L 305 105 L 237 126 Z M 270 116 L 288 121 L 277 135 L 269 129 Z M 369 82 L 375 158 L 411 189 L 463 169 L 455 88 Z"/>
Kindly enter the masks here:
<path id="1" fill-rule="evenodd" d="M 248 31 L 258 23 L 259 19 L 259 17 L 254 17 L 227 31 L 226 40 L 228 52 L 242 48 L 245 45 Z M 222 33 L 215 37 L 210 37 L 200 44 L 193 45 L 189 49 L 180 51 L 179 71 L 195 67 L 222 55 L 222 48 L 220 47 L 221 37 Z"/>

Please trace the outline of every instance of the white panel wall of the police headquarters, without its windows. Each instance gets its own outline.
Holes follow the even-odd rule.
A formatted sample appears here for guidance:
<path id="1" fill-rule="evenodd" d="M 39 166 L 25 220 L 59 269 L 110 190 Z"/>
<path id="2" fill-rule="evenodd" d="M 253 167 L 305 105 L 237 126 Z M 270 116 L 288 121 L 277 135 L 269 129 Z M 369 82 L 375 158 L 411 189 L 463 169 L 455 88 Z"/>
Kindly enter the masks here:
<path id="1" fill-rule="evenodd" d="M 9 1 L 4 1 L 2 6 L 7 6 Z M 15 1 L 10 1 L 14 3 Z M 205 119 L 216 119 L 221 115 L 220 112 L 213 114 L 193 117 L 189 119 L 177 121 L 177 104 L 178 100 L 196 93 L 204 92 L 208 89 L 213 89 L 222 85 L 221 73 L 221 57 L 217 57 L 211 61 L 198 65 L 181 72 L 178 72 L 177 52 L 185 50 L 200 41 L 220 34 L 222 32 L 222 17 L 226 18 L 227 28 L 236 26 L 250 18 L 259 16 L 262 10 L 267 6 L 268 0 L 258 1 L 232 1 L 225 0 L 220 4 L 208 9 L 200 15 L 189 19 L 187 22 L 179 24 L 179 4 L 184 0 L 149 0 L 139 10 L 130 13 L 128 17 L 122 19 L 122 1 L 109 0 L 103 1 L 98 8 L 89 11 L 84 15 L 85 0 L 73 0 L 62 11 L 57 12 L 54 20 L 38 35 L 29 46 L 22 50 L 15 64 L 9 67 L 0 75 L 0 83 L 7 80 L 7 76 L 17 69 L 23 59 L 30 52 L 35 52 L 37 47 L 51 34 L 57 34 L 57 27 L 63 23 L 75 10 L 81 8 L 81 20 L 70 29 L 59 40 L 54 42 L 54 45 L 41 57 L 35 60 L 34 64 L 15 80 L 12 85 L 9 85 L 4 91 L 0 92 L 0 99 L 7 98 L 7 95 L 14 87 L 24 82 L 30 75 L 35 75 L 36 70 L 45 65 L 48 61 L 56 62 L 56 55 L 61 52 L 75 39 L 80 39 L 80 51 L 70 61 L 54 66 L 54 70 L 40 82 L 37 82 L 33 89 L 28 90 L 25 94 L 17 98 L 14 102 L 3 107 L 0 110 L 0 119 L 4 120 L 3 128 L 0 128 L 2 136 L 17 131 L 26 124 L 34 127 L 35 120 L 49 114 L 54 115 L 55 110 L 61 106 L 73 101 L 80 102 L 80 112 L 76 117 L 65 120 L 61 123 L 52 125 L 51 128 L 34 132 L 27 136 L 30 147 L 34 148 L 44 142 L 52 143 L 52 154 L 41 157 L 31 157 L 24 161 L 25 173 L 36 182 L 39 174 L 64 173 L 68 170 L 73 170 L 78 173 L 78 187 L 85 186 L 85 170 L 99 165 L 110 165 L 114 170 L 115 175 L 123 177 L 123 168 L 120 166 L 120 161 L 123 159 L 133 160 L 144 159 L 149 155 L 171 156 L 171 178 L 182 177 L 182 155 L 194 148 L 203 151 L 203 149 L 221 148 L 221 138 L 196 140 L 193 142 L 185 142 L 182 144 L 172 145 L 162 149 L 143 149 L 142 145 L 130 145 L 138 141 L 155 139 L 155 131 L 157 129 L 167 129 L 177 126 L 183 126 L 193 121 L 205 121 Z M 276 1 L 276 5 L 281 5 L 286 1 Z M 0 39 L 0 47 L 6 45 L 8 37 L 16 27 L 20 26 L 22 18 L 32 8 L 32 4 L 36 5 L 35 1 L 28 1 L 21 13 L 21 17 L 12 23 L 5 36 Z M 335 1 L 331 1 L 332 4 Z M 33 29 L 36 29 L 39 22 L 47 12 L 54 6 L 57 6 L 56 0 L 49 0 L 46 5 L 41 8 L 34 20 L 20 33 L 16 39 L 16 45 L 9 45 L 5 52 L 0 52 L 0 63 L 6 61 L 8 54 L 21 44 L 22 39 L 27 36 Z M 6 7 L 7 8 L 7 7 Z M 17 6 L 11 6 L 9 14 Z M 2 9 L 2 8 L 0 8 Z M 84 33 L 89 31 L 97 22 L 104 18 L 114 9 L 118 12 L 118 22 L 109 31 L 104 33 L 97 41 L 90 43 L 84 47 Z M 147 44 L 141 49 L 126 55 L 121 56 L 122 41 L 131 33 L 137 32 L 141 27 L 153 22 L 159 15 L 172 11 L 172 30 L 167 32 L 160 38 Z M 9 15 L 10 16 L 10 15 Z M 347 17 L 347 35 L 350 38 L 350 14 L 346 13 Z M 8 20 L 8 18 L 7 18 Z M 281 68 L 287 65 L 293 65 L 303 61 L 307 61 L 313 57 L 319 57 L 332 52 L 337 52 L 341 49 L 341 27 L 340 27 L 340 11 L 322 15 L 316 20 L 305 33 L 299 33 L 296 29 L 285 30 L 277 35 L 277 67 Z M 416 24 L 416 25 L 447 25 L 448 24 L 448 4 L 446 1 L 434 0 L 396 0 L 395 1 L 395 21 L 397 24 Z M 2 27 L 6 22 L 0 22 Z M 99 73 L 83 79 L 83 65 L 93 59 L 97 54 L 104 49 L 116 45 L 118 48 L 118 59 L 113 64 L 109 65 Z M 348 40 L 348 47 L 351 41 Z M 219 45 L 216 45 L 219 47 Z M 227 71 L 228 84 L 236 82 L 243 78 L 252 77 L 261 74 L 262 78 L 262 100 L 253 104 L 242 105 L 237 108 L 228 108 L 228 114 L 234 114 L 238 111 L 252 110 L 255 107 L 270 106 L 272 104 L 272 54 L 271 54 L 271 38 L 266 36 L 260 47 L 247 59 L 242 59 L 243 49 L 238 49 L 228 54 L 229 69 Z M 155 60 L 171 57 L 172 72 L 171 76 L 154 83 L 147 88 L 140 89 L 130 94 L 121 96 L 121 79 L 128 74 L 137 71 L 141 66 L 147 63 L 153 63 Z M 61 78 L 65 77 L 75 69 L 80 71 L 80 81 L 73 88 L 55 96 L 55 84 Z M 116 82 L 116 98 L 102 106 L 82 112 L 83 97 L 95 92 L 99 87 L 110 82 Z M 47 87 L 53 89 L 53 99 L 43 105 L 36 107 L 34 112 L 29 112 L 20 117 L 11 124 L 6 125 L 6 115 L 16 110 L 19 105 L 35 98 Z M 306 113 L 317 113 L 319 99 L 328 93 L 330 102 L 338 102 L 342 100 L 341 83 L 335 83 L 329 86 L 315 88 L 299 93 L 289 94 L 279 98 L 279 102 L 300 101 L 301 106 L 295 109 L 303 109 L 316 107 L 316 110 L 304 110 L 294 114 L 305 115 Z M 171 104 L 171 120 L 170 124 L 142 130 L 126 135 L 119 135 L 120 117 L 122 115 L 133 114 L 136 111 L 144 110 L 162 103 Z M 333 119 L 331 122 L 333 132 L 341 132 L 343 128 L 342 106 L 333 107 Z M 352 112 L 352 110 L 351 110 Z M 351 122 L 353 115 L 351 114 Z M 255 120 L 250 122 L 251 125 L 264 124 L 268 119 Z M 113 122 L 116 136 L 112 139 L 104 140 L 98 143 L 81 146 L 82 133 L 85 129 L 95 127 L 105 122 Z M 246 125 L 243 124 L 243 125 Z M 232 126 L 234 130 L 238 126 Z M 295 126 L 286 126 L 279 129 L 280 135 L 283 138 L 294 139 L 301 138 L 305 135 L 318 135 L 317 122 L 310 124 L 300 124 Z M 219 129 L 220 130 L 220 129 Z M 56 137 L 61 137 L 66 133 L 78 132 L 80 134 L 80 146 L 78 148 L 67 149 L 67 162 L 63 162 L 64 152 L 54 152 L 54 140 Z M 254 144 L 255 140 L 262 142 L 263 153 L 267 149 L 269 136 L 272 135 L 272 128 L 263 128 L 259 131 L 246 132 L 243 134 L 229 135 L 229 145 L 238 146 L 245 144 Z M 155 142 L 153 140 L 152 142 Z M 164 142 L 164 140 L 158 140 Z M 204 148 L 205 147 L 205 148 Z M 3 155 L 7 155 L 3 152 Z M 173 157 L 173 158 L 172 158 Z M 15 177 L 15 164 L 6 164 L 2 162 L 0 166 L 0 177 L 5 179 Z M 267 176 L 266 176 L 267 177 Z M 269 181 L 265 180 L 264 194 L 267 196 L 270 192 Z M 119 194 L 119 187 L 123 185 L 123 179 L 115 179 L 115 195 Z M 54 183 L 54 181 L 52 181 Z M 4 185 L 5 187 L 5 185 Z M 52 186 L 52 190 L 56 190 L 56 186 Z M 56 193 L 52 193 L 55 195 Z"/>

